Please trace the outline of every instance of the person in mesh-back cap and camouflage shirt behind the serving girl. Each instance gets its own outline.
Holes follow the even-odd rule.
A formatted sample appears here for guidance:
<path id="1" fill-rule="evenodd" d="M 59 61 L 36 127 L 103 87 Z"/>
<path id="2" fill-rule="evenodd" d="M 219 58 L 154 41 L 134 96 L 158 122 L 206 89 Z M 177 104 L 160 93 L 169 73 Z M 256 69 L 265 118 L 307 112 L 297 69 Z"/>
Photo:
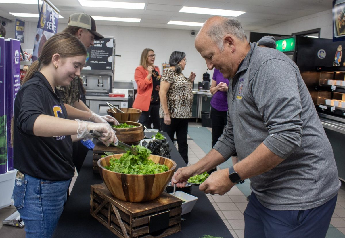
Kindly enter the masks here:
<path id="1" fill-rule="evenodd" d="M 104 38 L 96 31 L 95 20 L 86 13 L 73 13 L 69 16 L 68 26 L 62 30 L 69 34 L 76 36 L 86 48 L 93 46 L 93 40 L 100 40 Z M 70 119 L 87 120 L 97 123 L 112 122 L 115 125 L 119 123 L 112 116 L 99 116 L 92 112 L 86 105 L 85 88 L 83 87 L 81 77 L 75 77 L 71 84 L 67 87 L 57 86 L 59 91 L 62 91 L 62 102 Z M 73 143 L 73 163 L 77 171 L 81 169 L 81 165 L 85 160 L 88 150 L 93 150 L 95 145 L 91 140 L 78 141 Z"/>

